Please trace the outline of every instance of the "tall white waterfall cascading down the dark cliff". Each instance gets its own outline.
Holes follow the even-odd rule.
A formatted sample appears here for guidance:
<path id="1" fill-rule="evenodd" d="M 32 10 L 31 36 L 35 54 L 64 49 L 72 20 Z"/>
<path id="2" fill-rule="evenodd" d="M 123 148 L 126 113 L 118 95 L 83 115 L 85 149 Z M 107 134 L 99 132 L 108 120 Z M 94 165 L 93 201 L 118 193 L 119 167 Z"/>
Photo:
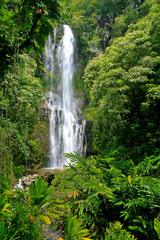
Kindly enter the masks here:
<path id="1" fill-rule="evenodd" d="M 73 96 L 75 39 L 68 25 L 63 26 L 64 34 L 60 45 L 49 36 L 45 46 L 45 69 L 50 74 L 51 89 L 45 94 L 50 109 L 50 168 L 62 168 L 67 164 L 64 153 L 76 151 L 85 154 L 85 120 L 80 119 L 80 109 Z M 56 70 L 55 70 L 56 68 Z M 56 76 L 56 80 L 55 80 Z M 54 79 L 54 80 L 53 80 Z M 53 88 L 53 82 L 57 86 Z"/>

